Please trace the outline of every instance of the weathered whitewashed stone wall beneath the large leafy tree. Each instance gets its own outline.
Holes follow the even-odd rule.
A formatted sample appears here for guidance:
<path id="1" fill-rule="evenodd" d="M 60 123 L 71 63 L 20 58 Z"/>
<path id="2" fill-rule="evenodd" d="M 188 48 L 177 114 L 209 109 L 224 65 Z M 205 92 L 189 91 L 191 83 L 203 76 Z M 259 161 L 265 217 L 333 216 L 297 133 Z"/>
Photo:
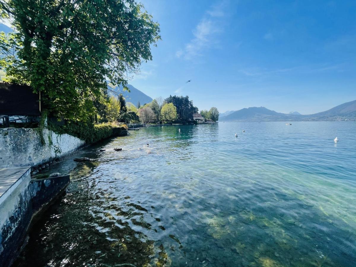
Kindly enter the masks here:
<path id="1" fill-rule="evenodd" d="M 37 129 L 0 129 L 0 166 L 36 166 L 53 158 L 64 156 L 85 144 L 84 140 L 68 134 L 56 134 L 44 129 L 45 144 Z"/>

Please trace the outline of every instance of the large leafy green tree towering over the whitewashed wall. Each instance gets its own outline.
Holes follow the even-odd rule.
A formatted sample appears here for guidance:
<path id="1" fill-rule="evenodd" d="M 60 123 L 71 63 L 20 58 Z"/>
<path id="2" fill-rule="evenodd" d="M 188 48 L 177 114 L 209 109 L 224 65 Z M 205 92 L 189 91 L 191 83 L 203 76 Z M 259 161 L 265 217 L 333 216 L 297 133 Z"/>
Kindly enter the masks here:
<path id="1" fill-rule="evenodd" d="M 126 85 L 160 39 L 158 23 L 134 0 L 0 0 L 0 12 L 16 28 L 0 36 L 1 69 L 64 119 L 91 116 L 106 79 Z"/>

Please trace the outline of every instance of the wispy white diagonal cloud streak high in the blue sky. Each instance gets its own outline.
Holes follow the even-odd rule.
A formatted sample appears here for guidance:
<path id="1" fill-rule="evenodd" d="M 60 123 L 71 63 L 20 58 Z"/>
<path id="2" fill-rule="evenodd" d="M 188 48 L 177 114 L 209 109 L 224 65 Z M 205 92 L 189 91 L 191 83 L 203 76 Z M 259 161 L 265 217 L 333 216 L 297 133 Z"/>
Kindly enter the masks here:
<path id="1" fill-rule="evenodd" d="M 194 38 L 183 49 L 176 52 L 176 57 L 186 60 L 201 56 L 205 49 L 214 45 L 215 35 L 223 31 L 221 19 L 225 16 L 226 2 L 220 2 L 205 12 L 204 17 L 193 30 Z"/>

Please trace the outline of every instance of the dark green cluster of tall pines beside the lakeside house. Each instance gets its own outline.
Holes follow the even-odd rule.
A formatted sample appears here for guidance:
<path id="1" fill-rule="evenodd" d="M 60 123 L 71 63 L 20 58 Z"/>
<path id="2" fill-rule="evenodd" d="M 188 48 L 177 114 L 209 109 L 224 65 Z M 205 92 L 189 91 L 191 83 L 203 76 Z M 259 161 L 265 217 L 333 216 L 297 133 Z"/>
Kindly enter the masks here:
<path id="1" fill-rule="evenodd" d="M 172 96 L 164 100 L 166 103 L 172 103 L 177 109 L 177 119 L 188 121 L 191 120 L 194 113 L 198 113 L 198 108 L 189 100 L 189 96 Z"/>

